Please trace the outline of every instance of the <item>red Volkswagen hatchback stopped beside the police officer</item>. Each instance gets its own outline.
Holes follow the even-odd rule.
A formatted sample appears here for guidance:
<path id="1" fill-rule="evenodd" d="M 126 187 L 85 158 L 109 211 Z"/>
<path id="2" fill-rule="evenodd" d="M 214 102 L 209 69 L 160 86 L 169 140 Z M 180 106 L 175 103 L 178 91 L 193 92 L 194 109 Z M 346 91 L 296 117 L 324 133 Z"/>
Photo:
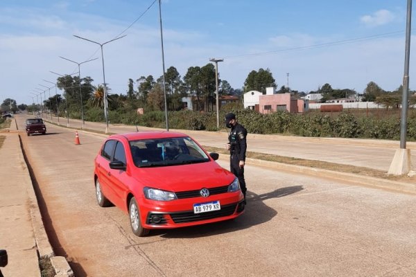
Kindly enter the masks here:
<path id="1" fill-rule="evenodd" d="M 108 137 L 95 159 L 99 206 L 130 215 L 135 235 L 231 220 L 244 211 L 239 180 L 189 136 L 135 132 Z"/>

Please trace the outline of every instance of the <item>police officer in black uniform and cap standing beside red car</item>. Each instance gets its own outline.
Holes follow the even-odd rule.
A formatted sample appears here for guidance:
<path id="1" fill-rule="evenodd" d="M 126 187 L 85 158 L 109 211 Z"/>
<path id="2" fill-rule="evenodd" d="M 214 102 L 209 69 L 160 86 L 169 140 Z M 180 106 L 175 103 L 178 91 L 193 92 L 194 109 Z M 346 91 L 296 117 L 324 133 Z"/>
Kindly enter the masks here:
<path id="1" fill-rule="evenodd" d="M 243 125 L 237 123 L 236 115 L 229 113 L 225 115 L 225 126 L 231 128 L 228 136 L 227 150 L 230 154 L 230 171 L 239 179 L 241 192 L 244 195 L 245 202 L 245 180 L 244 180 L 244 164 L 245 151 L 247 150 L 247 130 Z"/>

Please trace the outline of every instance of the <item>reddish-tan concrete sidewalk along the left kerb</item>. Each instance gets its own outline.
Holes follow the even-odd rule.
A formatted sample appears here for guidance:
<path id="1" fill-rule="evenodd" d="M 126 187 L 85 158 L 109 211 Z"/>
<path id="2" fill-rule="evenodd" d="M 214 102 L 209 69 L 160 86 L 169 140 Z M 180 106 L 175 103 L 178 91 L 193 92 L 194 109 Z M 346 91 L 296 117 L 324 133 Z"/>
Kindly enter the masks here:
<path id="1" fill-rule="evenodd" d="M 0 136 L 5 138 L 0 148 L 0 249 L 8 252 L 1 272 L 5 277 L 41 276 L 40 257 L 51 258 L 60 276 L 71 276 L 66 260 L 54 257 L 46 235 L 14 119 Z"/>

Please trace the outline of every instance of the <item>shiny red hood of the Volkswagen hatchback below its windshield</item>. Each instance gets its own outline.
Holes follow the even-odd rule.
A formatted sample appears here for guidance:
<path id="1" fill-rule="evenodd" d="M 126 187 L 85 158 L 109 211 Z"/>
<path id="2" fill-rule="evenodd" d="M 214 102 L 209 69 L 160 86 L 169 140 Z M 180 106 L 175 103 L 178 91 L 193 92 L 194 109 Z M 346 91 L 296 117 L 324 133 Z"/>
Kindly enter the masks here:
<path id="1" fill-rule="evenodd" d="M 135 168 L 132 173 L 142 186 L 171 191 L 227 186 L 235 179 L 231 172 L 219 166 L 216 161 L 180 166 Z"/>

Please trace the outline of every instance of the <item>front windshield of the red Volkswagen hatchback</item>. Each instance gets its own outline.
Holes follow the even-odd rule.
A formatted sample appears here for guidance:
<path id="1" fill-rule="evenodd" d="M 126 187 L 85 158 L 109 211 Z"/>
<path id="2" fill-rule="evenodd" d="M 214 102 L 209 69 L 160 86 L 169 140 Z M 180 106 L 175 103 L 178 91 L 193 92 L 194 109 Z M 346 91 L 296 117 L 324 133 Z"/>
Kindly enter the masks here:
<path id="1" fill-rule="evenodd" d="M 130 141 L 130 150 L 139 168 L 209 161 L 207 154 L 189 137 Z"/>

